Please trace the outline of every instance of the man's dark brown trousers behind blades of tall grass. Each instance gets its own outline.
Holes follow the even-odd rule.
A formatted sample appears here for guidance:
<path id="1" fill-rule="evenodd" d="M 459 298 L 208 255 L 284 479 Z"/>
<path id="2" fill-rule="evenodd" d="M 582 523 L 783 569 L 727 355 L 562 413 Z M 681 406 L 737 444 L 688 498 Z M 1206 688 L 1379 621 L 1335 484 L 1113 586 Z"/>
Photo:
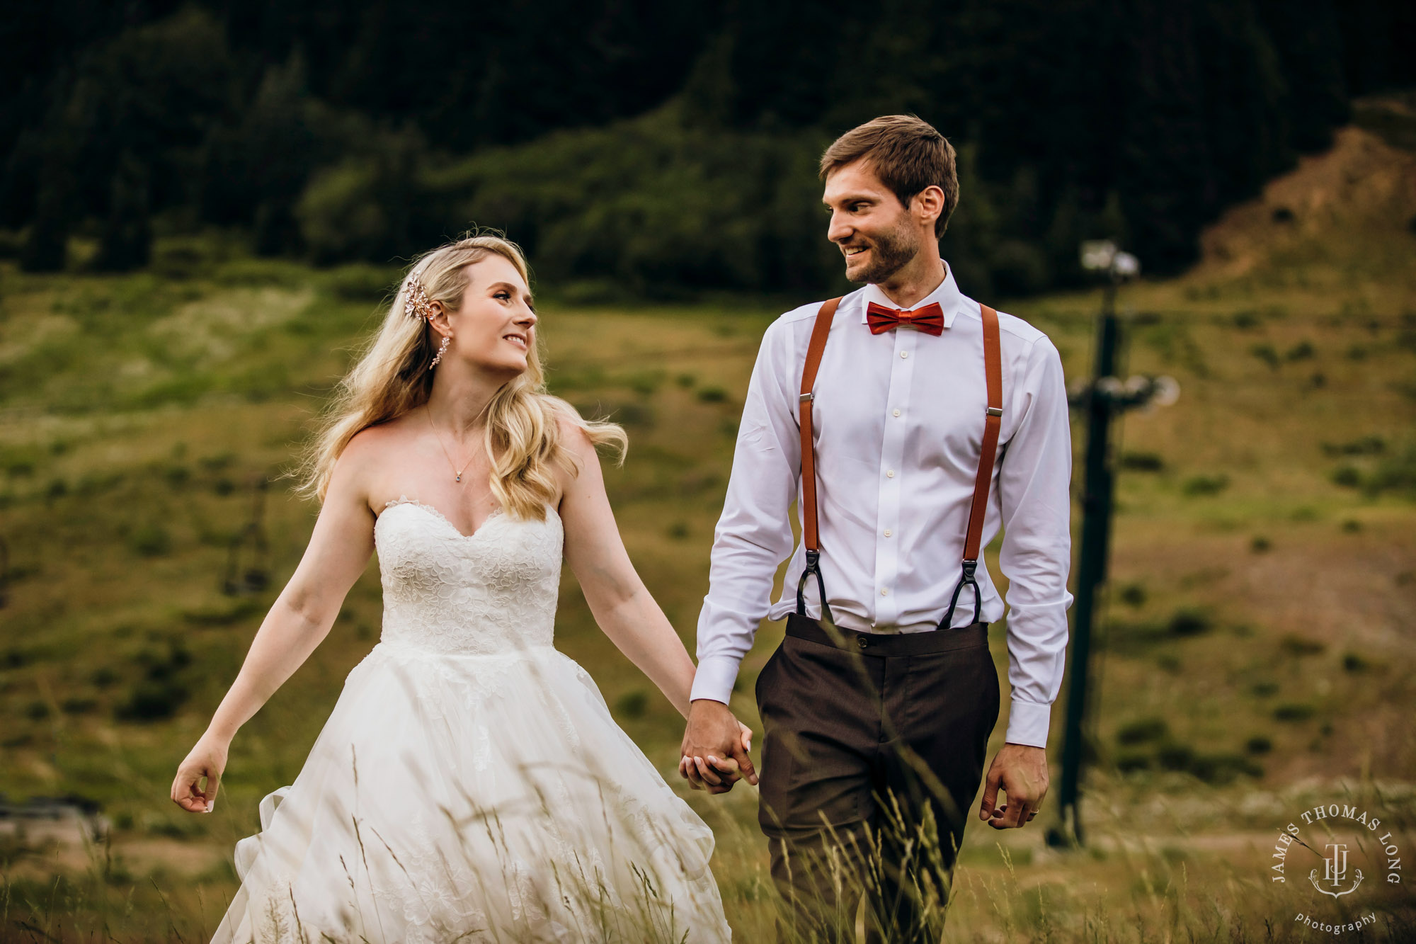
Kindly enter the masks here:
<path id="1" fill-rule="evenodd" d="M 792 615 L 758 676 L 758 821 L 783 941 L 937 941 L 998 720 L 988 624 L 884 635 Z"/>

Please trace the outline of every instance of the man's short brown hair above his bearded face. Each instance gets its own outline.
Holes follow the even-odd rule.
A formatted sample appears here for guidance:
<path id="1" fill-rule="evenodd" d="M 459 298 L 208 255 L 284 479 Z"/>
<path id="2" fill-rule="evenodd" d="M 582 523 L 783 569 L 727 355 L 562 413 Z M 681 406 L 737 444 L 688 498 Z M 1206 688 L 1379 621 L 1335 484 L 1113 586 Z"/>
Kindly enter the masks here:
<path id="1" fill-rule="evenodd" d="M 915 115 L 882 115 L 852 128 L 821 154 L 821 179 L 857 160 L 868 160 L 881 183 L 903 206 L 929 186 L 944 191 L 944 208 L 935 221 L 935 237 L 944 235 L 959 206 L 954 149 L 933 125 Z"/>

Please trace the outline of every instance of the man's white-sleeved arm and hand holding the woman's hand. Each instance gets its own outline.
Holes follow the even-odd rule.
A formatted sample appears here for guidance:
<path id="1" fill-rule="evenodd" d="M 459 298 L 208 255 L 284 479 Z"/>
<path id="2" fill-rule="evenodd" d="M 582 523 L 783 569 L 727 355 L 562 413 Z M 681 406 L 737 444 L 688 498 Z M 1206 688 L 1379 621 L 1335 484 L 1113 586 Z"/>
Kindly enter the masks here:
<path id="1" fill-rule="evenodd" d="M 777 566 L 793 547 L 789 510 L 801 446 L 790 393 L 797 377 L 792 342 L 793 323 L 779 320 L 758 350 L 698 617 L 698 670 L 680 770 L 695 788 L 707 784 L 714 792 L 731 790 L 736 780 L 719 777 L 708 758 L 733 754 L 738 726 L 728 700 L 758 624 L 767 615 Z"/>

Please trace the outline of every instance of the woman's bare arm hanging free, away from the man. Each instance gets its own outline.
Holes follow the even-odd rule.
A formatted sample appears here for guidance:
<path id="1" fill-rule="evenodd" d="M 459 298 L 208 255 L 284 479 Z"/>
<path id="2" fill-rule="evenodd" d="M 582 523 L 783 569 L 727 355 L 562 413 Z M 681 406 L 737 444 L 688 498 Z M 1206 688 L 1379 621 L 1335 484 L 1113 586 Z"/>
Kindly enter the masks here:
<path id="1" fill-rule="evenodd" d="M 300 566 L 261 622 L 205 734 L 177 768 L 171 798 L 183 809 L 211 812 L 231 738 L 320 645 L 368 564 L 374 513 L 358 482 L 358 456 L 351 452 L 361 449 L 351 442 L 336 463 Z M 200 787 L 204 777 L 205 790 Z"/>

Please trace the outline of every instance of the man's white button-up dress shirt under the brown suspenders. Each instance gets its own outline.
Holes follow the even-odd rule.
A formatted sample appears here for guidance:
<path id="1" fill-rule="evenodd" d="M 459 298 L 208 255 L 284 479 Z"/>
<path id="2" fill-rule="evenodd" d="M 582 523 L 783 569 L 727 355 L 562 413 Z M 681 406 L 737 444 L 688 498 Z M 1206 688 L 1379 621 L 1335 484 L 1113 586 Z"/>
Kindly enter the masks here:
<path id="1" fill-rule="evenodd" d="M 943 619 L 960 575 L 988 398 L 983 318 L 978 302 L 959 292 L 952 271 L 913 306 L 939 302 L 939 337 L 903 326 L 871 335 L 869 302 L 899 308 L 875 285 L 847 295 L 816 380 L 821 573 L 837 625 L 925 632 Z M 787 516 L 801 489 L 797 397 L 818 309 L 814 302 L 779 318 L 758 352 L 698 618 L 694 699 L 726 703 L 762 618 L 796 611 L 806 551 L 800 544 L 792 550 Z M 1003 428 L 981 546 L 1004 529 L 998 563 L 1010 581 L 1012 686 L 1007 740 L 1045 747 L 1072 604 L 1072 431 L 1056 347 L 1011 315 L 1000 312 L 998 327 Z M 786 585 L 769 605 L 773 577 L 789 553 Z M 1003 618 L 1003 600 L 983 560 L 977 580 L 983 619 Z M 820 618 L 814 580 L 806 598 L 809 615 Z M 976 619 L 973 591 L 964 588 L 950 622 Z"/>

